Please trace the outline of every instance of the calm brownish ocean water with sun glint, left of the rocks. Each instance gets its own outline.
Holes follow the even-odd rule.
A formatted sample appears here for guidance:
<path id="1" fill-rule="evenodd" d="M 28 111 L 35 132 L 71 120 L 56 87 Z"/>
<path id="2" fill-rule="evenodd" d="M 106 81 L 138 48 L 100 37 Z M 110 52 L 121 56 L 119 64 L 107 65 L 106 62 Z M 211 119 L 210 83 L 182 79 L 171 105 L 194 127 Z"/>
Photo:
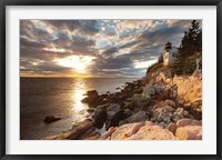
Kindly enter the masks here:
<path id="1" fill-rule="evenodd" d="M 89 117 L 88 104 L 81 102 L 88 90 L 99 93 L 114 92 L 117 87 L 137 79 L 71 79 L 21 78 L 20 79 L 20 139 L 37 140 L 72 128 Z M 47 116 L 62 118 L 46 124 Z"/>

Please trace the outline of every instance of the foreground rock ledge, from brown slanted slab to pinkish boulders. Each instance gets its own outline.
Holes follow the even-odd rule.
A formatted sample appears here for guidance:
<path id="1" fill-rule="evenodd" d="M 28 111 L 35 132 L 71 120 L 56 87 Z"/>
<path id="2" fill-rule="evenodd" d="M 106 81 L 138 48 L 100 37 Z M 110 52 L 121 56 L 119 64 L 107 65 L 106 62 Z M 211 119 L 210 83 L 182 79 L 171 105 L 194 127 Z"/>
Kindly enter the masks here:
<path id="1" fill-rule="evenodd" d="M 72 130 L 41 140 L 201 140 L 202 121 L 181 119 L 165 129 L 151 121 L 111 127 L 100 134 L 93 123 L 85 120 Z"/>

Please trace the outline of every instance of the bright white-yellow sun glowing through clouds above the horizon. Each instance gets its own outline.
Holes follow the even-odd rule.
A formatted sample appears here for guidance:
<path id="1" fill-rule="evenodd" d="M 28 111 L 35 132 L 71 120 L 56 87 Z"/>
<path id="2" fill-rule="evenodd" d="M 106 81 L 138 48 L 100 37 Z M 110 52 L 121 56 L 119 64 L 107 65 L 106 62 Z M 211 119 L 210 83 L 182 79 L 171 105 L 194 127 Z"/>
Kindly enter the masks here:
<path id="1" fill-rule="evenodd" d="M 84 73 L 88 67 L 92 64 L 93 59 L 94 57 L 89 56 L 70 56 L 62 59 L 54 59 L 53 61 L 59 66 L 73 68 L 77 72 Z"/>

